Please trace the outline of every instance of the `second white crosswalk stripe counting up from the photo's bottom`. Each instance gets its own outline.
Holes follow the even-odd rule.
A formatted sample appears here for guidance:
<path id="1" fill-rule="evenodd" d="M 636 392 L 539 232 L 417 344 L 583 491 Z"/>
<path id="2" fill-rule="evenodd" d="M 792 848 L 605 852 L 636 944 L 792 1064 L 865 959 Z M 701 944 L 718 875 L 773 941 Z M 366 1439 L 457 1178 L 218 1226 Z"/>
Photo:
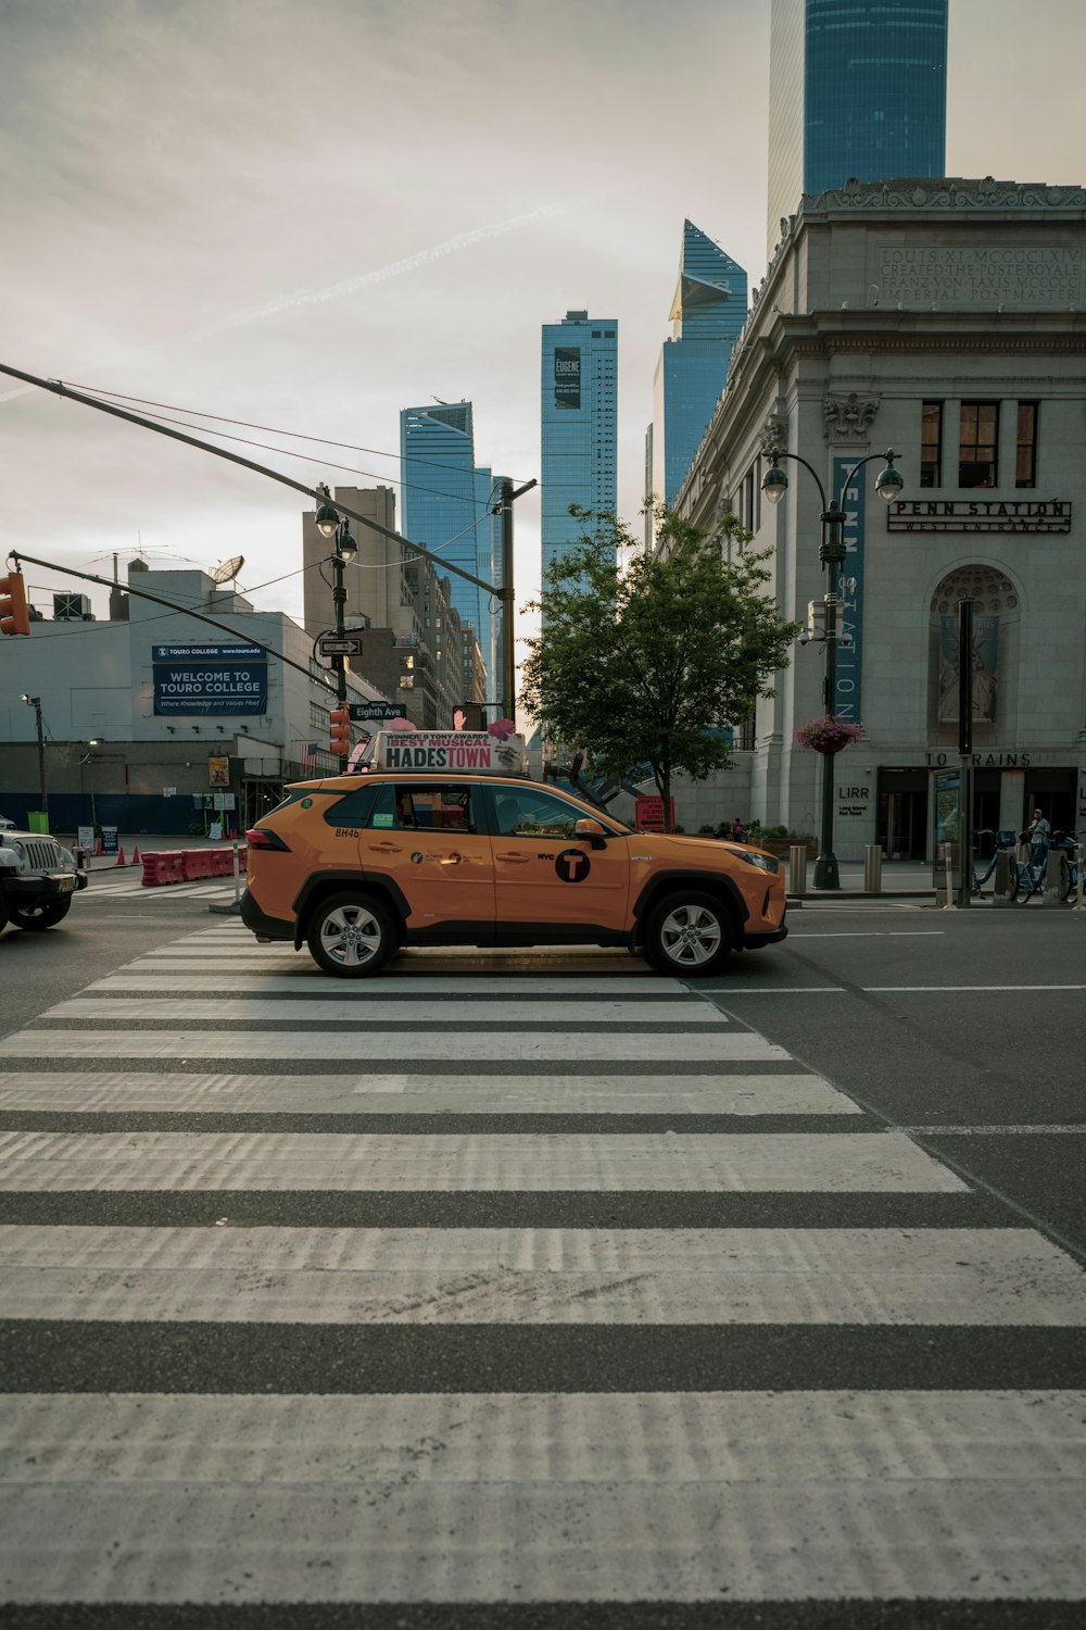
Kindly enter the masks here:
<path id="1" fill-rule="evenodd" d="M 5 1319 L 1086 1327 L 1032 1229 L 0 1227 Z"/>

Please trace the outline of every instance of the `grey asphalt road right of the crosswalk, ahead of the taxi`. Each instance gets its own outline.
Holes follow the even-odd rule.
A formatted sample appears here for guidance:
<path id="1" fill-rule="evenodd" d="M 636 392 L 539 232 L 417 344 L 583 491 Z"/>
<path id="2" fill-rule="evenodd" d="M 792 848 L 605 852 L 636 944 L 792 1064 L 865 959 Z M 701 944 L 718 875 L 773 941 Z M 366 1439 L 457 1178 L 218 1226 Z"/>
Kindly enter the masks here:
<path id="1" fill-rule="evenodd" d="M 690 983 L 1086 1260 L 1086 913 L 808 905 Z"/>

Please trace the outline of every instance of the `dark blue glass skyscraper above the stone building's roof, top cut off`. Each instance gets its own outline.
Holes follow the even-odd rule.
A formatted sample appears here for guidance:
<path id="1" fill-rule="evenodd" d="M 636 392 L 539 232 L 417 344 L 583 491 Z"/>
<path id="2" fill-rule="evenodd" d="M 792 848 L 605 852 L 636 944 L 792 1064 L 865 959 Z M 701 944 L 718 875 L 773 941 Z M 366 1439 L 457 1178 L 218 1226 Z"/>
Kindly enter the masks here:
<path id="1" fill-rule="evenodd" d="M 946 171 L 949 0 L 773 0 L 767 254 L 804 192 Z"/>

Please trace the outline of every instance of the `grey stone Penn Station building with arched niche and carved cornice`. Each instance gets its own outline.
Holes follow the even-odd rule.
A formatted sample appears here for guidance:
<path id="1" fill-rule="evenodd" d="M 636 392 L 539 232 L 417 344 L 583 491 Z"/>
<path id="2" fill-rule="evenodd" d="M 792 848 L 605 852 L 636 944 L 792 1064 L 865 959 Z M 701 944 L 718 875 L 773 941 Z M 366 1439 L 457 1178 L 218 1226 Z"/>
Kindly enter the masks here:
<path id="1" fill-rule="evenodd" d="M 804 197 L 754 295 L 725 394 L 677 509 L 734 512 L 773 551 L 782 613 L 825 593 L 817 482 L 848 520 L 835 711 L 865 725 L 837 760 L 834 848 L 933 851 L 933 776 L 959 764 L 957 603 L 974 600 L 975 826 L 1040 804 L 1086 828 L 1086 189 L 850 183 Z M 894 450 L 905 486 L 876 496 Z M 822 714 L 817 641 L 759 704 L 731 771 L 679 794 L 687 830 L 721 815 L 819 830 L 822 760 L 793 734 Z"/>

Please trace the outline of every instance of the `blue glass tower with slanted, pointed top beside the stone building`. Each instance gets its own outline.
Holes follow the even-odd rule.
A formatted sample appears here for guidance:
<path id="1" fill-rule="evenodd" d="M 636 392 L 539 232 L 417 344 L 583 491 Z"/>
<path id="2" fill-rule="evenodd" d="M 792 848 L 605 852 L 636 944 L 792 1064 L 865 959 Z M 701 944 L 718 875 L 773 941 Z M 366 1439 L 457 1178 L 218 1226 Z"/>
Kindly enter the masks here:
<path id="1" fill-rule="evenodd" d="M 672 339 L 656 363 L 651 491 L 674 504 L 725 388 L 747 319 L 747 274 L 694 222 L 682 223 Z"/>

